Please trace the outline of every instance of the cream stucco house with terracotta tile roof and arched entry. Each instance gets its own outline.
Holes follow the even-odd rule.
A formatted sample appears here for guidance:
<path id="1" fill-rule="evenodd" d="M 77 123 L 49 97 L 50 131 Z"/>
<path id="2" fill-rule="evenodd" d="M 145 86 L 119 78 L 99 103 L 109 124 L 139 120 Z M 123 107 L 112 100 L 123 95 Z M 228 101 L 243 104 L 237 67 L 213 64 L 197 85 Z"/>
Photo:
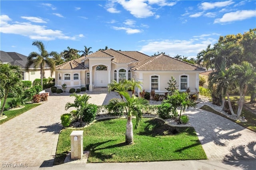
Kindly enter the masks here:
<path id="1" fill-rule="evenodd" d="M 143 83 L 145 91 L 154 89 L 162 94 L 167 92 L 165 88 L 173 76 L 180 91 L 190 88 L 191 92 L 196 92 L 202 71 L 205 69 L 164 54 L 150 57 L 138 51 L 107 49 L 57 65 L 55 85 L 61 88 L 66 84 L 67 89 L 77 89 L 88 84 L 89 91 L 93 91 L 97 87 L 107 87 L 112 80 L 120 82 L 134 78 Z"/>

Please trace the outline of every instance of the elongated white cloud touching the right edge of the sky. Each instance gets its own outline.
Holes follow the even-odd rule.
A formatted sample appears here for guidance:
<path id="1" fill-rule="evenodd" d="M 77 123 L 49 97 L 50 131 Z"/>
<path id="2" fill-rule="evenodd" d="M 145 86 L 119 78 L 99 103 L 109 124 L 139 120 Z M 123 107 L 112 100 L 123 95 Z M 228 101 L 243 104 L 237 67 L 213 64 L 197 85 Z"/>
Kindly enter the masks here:
<path id="1" fill-rule="evenodd" d="M 214 20 L 215 23 L 228 23 L 233 21 L 245 20 L 256 16 L 256 10 L 241 10 L 236 12 L 226 13 L 222 18 Z"/>

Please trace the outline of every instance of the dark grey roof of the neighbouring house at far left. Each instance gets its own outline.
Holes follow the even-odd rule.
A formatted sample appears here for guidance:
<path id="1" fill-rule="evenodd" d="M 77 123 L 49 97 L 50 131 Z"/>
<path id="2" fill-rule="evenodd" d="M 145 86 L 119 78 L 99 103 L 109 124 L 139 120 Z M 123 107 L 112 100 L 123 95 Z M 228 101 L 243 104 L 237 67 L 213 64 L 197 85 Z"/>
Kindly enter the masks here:
<path id="1" fill-rule="evenodd" d="M 22 55 L 16 52 L 0 51 L 0 61 L 2 61 L 2 63 L 10 63 L 11 65 L 18 65 L 22 69 L 24 69 L 28 61 L 28 57 L 26 55 Z M 33 68 L 33 67 L 34 65 L 30 66 L 30 68 Z"/>

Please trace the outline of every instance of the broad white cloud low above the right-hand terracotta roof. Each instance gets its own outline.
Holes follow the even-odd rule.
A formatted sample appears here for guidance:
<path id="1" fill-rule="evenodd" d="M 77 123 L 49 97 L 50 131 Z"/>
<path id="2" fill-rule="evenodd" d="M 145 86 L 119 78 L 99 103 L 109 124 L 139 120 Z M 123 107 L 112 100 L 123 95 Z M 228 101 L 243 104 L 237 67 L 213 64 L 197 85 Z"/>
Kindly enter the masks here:
<path id="1" fill-rule="evenodd" d="M 196 57 L 197 53 L 202 49 L 206 49 L 208 44 L 214 44 L 217 40 L 208 38 L 206 40 L 150 40 L 146 41 L 146 45 L 142 45 L 140 52 L 155 53 L 156 51 L 165 52 L 174 57 L 175 55 L 184 55 L 187 57 Z M 143 43 L 143 42 L 142 42 Z"/>

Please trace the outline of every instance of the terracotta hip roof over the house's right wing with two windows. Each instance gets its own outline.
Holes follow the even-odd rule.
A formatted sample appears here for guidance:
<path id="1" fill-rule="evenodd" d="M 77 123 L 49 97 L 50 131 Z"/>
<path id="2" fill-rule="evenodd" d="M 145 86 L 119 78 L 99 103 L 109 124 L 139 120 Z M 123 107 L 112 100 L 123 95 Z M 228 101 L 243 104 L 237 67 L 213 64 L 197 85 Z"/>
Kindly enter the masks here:
<path id="1" fill-rule="evenodd" d="M 165 54 L 149 57 L 138 63 L 132 70 L 140 71 L 205 71 L 205 69 Z"/>

